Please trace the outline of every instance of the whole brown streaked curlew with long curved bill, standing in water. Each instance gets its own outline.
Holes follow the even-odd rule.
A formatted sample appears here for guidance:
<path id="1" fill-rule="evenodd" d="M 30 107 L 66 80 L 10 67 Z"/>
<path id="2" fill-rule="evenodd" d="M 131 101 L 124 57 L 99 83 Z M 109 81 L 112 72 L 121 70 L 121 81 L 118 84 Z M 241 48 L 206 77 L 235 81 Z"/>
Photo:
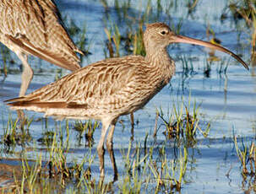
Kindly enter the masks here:
<path id="1" fill-rule="evenodd" d="M 235 57 L 248 69 L 240 57 L 224 47 L 203 40 L 175 35 L 163 23 L 148 24 L 144 31 L 146 56 L 109 58 L 80 68 L 74 73 L 48 84 L 24 97 L 7 100 L 14 110 L 35 110 L 57 119 L 101 120 L 101 139 L 97 146 L 101 179 L 104 177 L 104 141 L 112 160 L 114 180 L 117 165 L 112 150 L 112 137 L 119 116 L 139 110 L 154 97 L 175 73 L 175 63 L 166 46 L 176 43 L 207 46 Z"/>

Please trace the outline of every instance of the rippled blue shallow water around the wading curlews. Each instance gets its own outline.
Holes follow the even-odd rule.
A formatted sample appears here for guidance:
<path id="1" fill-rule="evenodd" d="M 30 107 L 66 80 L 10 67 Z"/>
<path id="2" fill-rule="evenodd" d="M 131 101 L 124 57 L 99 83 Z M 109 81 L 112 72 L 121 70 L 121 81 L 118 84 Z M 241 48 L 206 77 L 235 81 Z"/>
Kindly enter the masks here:
<path id="1" fill-rule="evenodd" d="M 137 3 L 132 1 L 130 13 L 140 13 L 144 11 L 145 1 Z M 166 1 L 168 2 L 168 1 Z M 166 4 L 162 1 L 162 4 Z M 176 1 L 174 1 L 175 3 Z M 177 8 L 171 8 L 172 21 L 166 20 L 167 16 L 161 12 L 158 21 L 171 22 L 177 25 L 179 19 L 182 19 L 182 27 L 180 34 L 188 35 L 190 37 L 201 40 L 208 40 L 206 36 L 207 24 L 210 24 L 211 29 L 215 32 L 215 37 L 221 40 L 222 46 L 242 55 L 245 62 L 250 61 L 250 45 L 248 42 L 248 30 L 244 32 L 237 32 L 237 25 L 231 18 L 231 13 L 225 21 L 221 22 L 221 13 L 226 8 L 226 1 L 211 0 L 199 1 L 196 9 L 191 15 L 188 15 L 188 8 L 186 1 L 177 1 Z M 114 8 L 114 1 L 107 1 L 110 18 L 106 19 L 105 9 L 101 1 L 82 1 L 82 0 L 67 0 L 57 1 L 58 8 L 63 16 L 68 19 L 73 19 L 78 26 L 86 25 L 86 36 L 90 41 L 90 52 L 92 55 L 84 57 L 83 66 L 90 62 L 100 61 L 104 59 L 104 44 L 106 41 L 106 34 L 104 28 L 107 25 L 116 23 L 120 31 L 125 32 L 124 19 L 120 21 L 117 17 L 117 10 Z M 120 3 L 121 4 L 121 3 Z M 152 8 L 156 13 L 156 3 L 152 1 Z M 150 20 L 155 22 L 155 20 Z M 240 35 L 241 33 L 241 35 Z M 238 34 L 240 36 L 238 36 Z M 241 37 L 240 39 L 237 37 Z M 74 40 L 78 37 L 74 37 Z M 256 78 L 255 69 L 250 67 L 246 71 L 242 65 L 238 64 L 231 57 L 216 52 L 216 56 L 224 62 L 224 66 L 228 65 L 226 73 L 221 72 L 221 62 L 212 62 L 210 64 L 210 76 L 206 77 L 204 69 L 206 67 L 207 59 L 209 57 L 207 50 L 199 46 L 178 45 L 170 46 L 169 53 L 176 61 L 177 72 L 172 78 L 170 84 L 156 94 L 153 100 L 147 104 L 143 110 L 138 110 L 134 114 L 135 121 L 138 121 L 134 127 L 133 147 L 136 144 L 144 143 L 144 138 L 149 133 L 149 146 L 154 144 L 153 132 L 155 127 L 155 109 L 162 108 L 166 119 L 167 115 L 172 112 L 173 105 L 181 105 L 182 97 L 185 104 L 191 101 L 191 110 L 193 108 L 193 101 L 201 104 L 199 108 L 199 120 L 202 122 L 210 121 L 210 133 L 208 137 L 204 137 L 201 133 L 198 134 L 198 143 L 195 148 L 189 148 L 189 155 L 195 159 L 191 163 L 191 170 L 188 170 L 186 179 L 188 183 L 182 185 L 182 193 L 243 193 L 247 188 L 242 187 L 241 164 L 237 158 L 236 148 L 233 143 L 233 136 L 242 137 L 244 143 L 255 142 L 255 123 L 256 123 Z M 21 62 L 12 54 L 14 61 L 14 68 L 19 69 Z M 188 64 L 193 64 L 193 70 L 188 68 L 186 73 L 182 68 L 181 58 L 186 58 Z M 57 75 L 57 67 L 30 57 L 30 64 L 35 69 L 35 76 L 30 84 L 28 92 L 40 88 L 45 84 L 54 81 Z M 190 66 L 190 65 L 189 65 Z M 68 73 L 62 70 L 63 74 Z M 3 100 L 14 98 L 19 95 L 20 73 L 9 73 L 8 77 L 0 84 L 0 110 L 3 117 L 3 127 L 6 126 L 8 115 L 11 114 L 13 118 L 16 117 L 15 111 L 8 110 L 4 105 Z M 34 116 L 34 119 L 41 118 L 43 115 L 35 112 L 26 112 L 28 116 Z M 128 144 L 131 137 L 129 116 L 121 117 L 123 125 L 117 123 L 114 134 L 114 149 L 117 160 L 117 168 L 122 175 L 124 170 L 123 155 L 120 150 L 128 149 Z M 158 126 L 162 121 L 159 119 Z M 62 122 L 63 126 L 65 121 Z M 69 124 L 74 125 L 74 121 L 69 121 Z M 56 122 L 52 118 L 48 119 L 48 130 L 54 131 Z M 44 149 L 45 146 L 38 143 L 38 139 L 42 137 L 43 132 L 46 131 L 43 121 L 33 121 L 30 125 L 30 135 L 32 141 L 25 147 L 33 147 L 33 142 L 36 145 L 37 151 L 28 152 L 30 159 L 35 159 L 37 152 Z M 158 131 L 157 140 L 154 144 L 156 147 L 162 142 L 166 141 L 166 137 L 162 134 L 164 127 L 160 127 Z M 3 136 L 3 130 L 0 131 Z M 84 146 L 84 138 L 79 145 L 78 132 L 70 128 L 70 150 L 68 160 L 74 159 L 82 161 L 84 153 L 89 152 L 89 148 Z M 91 149 L 92 154 L 96 153 L 96 146 L 101 135 L 101 130 L 95 131 L 95 144 Z M 238 139 L 240 142 L 242 139 Z M 2 146 L 3 148 L 3 146 Z M 22 146 L 17 146 L 15 152 L 19 153 Z M 157 148 L 155 148 L 157 149 Z M 173 158 L 173 143 L 167 141 L 166 143 L 166 158 Z M 17 158 L 15 154 L 4 154 L 4 158 Z M 111 160 L 106 154 L 106 181 L 112 180 L 112 164 Z M 1 162 L 1 161 L 0 161 Z M 2 161 L 5 163 L 6 161 Z M 11 163 L 8 161 L 8 163 Z M 95 163 L 91 166 L 93 176 L 95 179 L 99 177 L 98 158 L 95 157 Z M 189 169 L 189 168 L 188 168 Z M 229 176 L 227 172 L 230 170 Z M 117 183 L 118 184 L 118 183 Z"/>

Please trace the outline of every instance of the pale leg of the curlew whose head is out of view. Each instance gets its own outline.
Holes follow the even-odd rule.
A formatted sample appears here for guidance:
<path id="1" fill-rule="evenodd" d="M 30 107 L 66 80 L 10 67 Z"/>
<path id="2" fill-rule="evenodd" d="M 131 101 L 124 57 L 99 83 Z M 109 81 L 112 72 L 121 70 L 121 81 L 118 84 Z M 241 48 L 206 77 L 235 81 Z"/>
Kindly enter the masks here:
<path id="1" fill-rule="evenodd" d="M 22 64 L 23 64 L 23 73 L 21 76 L 21 86 L 20 86 L 20 90 L 19 90 L 19 96 L 24 96 L 27 89 L 29 88 L 30 82 L 33 78 L 33 70 L 30 67 L 30 64 L 28 63 L 28 57 L 23 54 L 23 53 L 18 53 L 17 54 L 19 59 L 21 60 Z"/>

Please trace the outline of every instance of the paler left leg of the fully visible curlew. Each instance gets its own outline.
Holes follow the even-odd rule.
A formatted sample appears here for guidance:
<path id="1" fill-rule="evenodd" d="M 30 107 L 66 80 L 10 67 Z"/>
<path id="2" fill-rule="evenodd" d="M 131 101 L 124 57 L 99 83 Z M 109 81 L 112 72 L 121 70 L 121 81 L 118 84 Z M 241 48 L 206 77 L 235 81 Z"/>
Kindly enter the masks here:
<path id="1" fill-rule="evenodd" d="M 101 180 L 104 179 L 104 154 L 105 154 L 104 140 L 105 140 L 106 132 L 107 132 L 109 125 L 110 124 L 108 122 L 102 121 L 101 139 L 100 139 L 100 142 L 97 147 L 99 160 L 100 160 Z"/>

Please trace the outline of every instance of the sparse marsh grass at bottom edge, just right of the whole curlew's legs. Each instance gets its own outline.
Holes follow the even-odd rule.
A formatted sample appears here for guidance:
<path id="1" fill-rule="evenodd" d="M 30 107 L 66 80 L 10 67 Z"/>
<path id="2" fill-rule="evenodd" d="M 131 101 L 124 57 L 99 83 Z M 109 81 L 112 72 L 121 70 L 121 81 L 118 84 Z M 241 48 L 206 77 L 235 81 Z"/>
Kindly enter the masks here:
<path id="1" fill-rule="evenodd" d="M 166 144 L 163 144 L 160 148 L 151 145 L 146 148 L 148 152 L 145 152 L 140 144 L 136 144 L 135 148 L 132 148 L 130 142 L 127 151 L 121 150 L 125 171 L 122 180 L 118 184 L 119 191 L 122 193 L 144 193 L 148 191 L 170 193 L 181 191 L 182 185 L 187 182 L 185 181 L 185 175 L 188 164 L 188 150 L 185 147 L 180 148 L 177 157 L 167 159 L 166 147 Z"/>

